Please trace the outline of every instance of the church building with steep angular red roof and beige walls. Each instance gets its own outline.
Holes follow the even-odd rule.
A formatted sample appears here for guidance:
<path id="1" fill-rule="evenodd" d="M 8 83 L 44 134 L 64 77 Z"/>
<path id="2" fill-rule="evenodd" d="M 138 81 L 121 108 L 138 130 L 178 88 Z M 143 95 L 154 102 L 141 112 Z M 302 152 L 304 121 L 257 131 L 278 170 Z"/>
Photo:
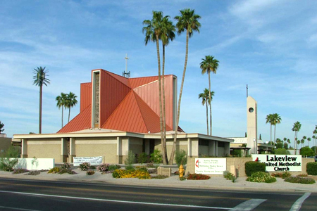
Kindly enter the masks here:
<path id="1" fill-rule="evenodd" d="M 91 82 L 80 84 L 80 113 L 56 134 L 15 134 L 21 141 L 22 158 L 54 158 L 73 162 L 73 157 L 102 156 L 103 162 L 122 164 L 135 155 L 161 151 L 159 77 L 127 78 L 106 70 L 92 70 Z M 163 78 L 162 78 L 163 79 Z M 177 77 L 165 75 L 166 145 L 173 146 L 177 113 Z M 185 106 L 185 105 L 184 105 Z M 178 127 L 176 150 L 190 158 L 230 154 L 231 139 L 185 133 Z"/>

